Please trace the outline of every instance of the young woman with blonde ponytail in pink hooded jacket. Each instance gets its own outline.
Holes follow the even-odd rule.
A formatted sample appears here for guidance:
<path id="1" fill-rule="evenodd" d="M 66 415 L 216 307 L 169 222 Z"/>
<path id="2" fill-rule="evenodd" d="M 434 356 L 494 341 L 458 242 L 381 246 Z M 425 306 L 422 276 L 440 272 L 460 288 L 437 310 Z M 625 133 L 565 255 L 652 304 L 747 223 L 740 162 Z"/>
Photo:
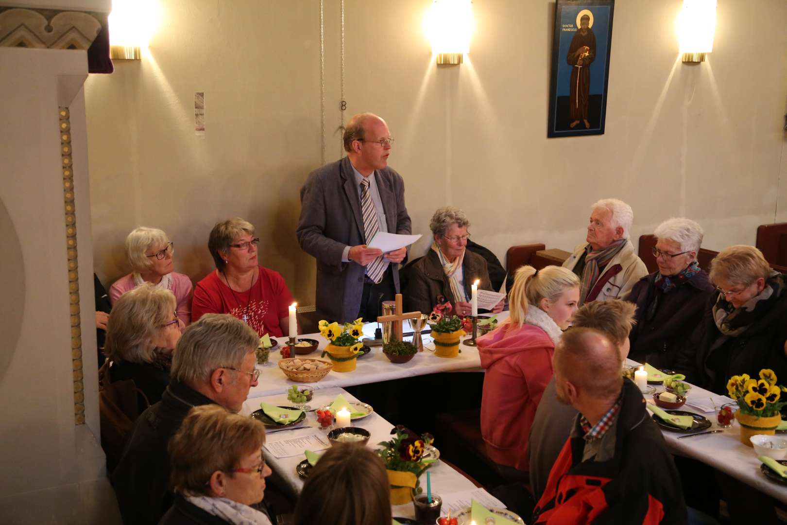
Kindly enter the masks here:
<path id="1" fill-rule="evenodd" d="M 478 338 L 486 370 L 481 433 L 490 458 L 509 479 L 527 479 L 527 437 L 541 394 L 552 378 L 552 353 L 578 308 L 580 282 L 566 268 L 517 270 L 511 316 Z"/>

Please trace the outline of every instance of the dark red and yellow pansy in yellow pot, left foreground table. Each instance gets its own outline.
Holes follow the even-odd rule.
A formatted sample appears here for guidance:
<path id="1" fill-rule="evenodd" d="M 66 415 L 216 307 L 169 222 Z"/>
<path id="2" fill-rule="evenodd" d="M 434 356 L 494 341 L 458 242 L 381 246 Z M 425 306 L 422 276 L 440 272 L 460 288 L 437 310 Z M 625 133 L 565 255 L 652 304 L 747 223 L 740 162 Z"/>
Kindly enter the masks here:
<path id="1" fill-rule="evenodd" d="M 417 434 L 402 425 L 391 429 L 395 434 L 390 441 L 379 442 L 382 449 L 377 453 L 382 457 L 388 472 L 391 486 L 391 505 L 404 505 L 412 501 L 415 494 L 420 494 L 419 477 L 434 463 L 434 459 L 424 457 L 427 446 L 434 438 L 430 434 Z"/>

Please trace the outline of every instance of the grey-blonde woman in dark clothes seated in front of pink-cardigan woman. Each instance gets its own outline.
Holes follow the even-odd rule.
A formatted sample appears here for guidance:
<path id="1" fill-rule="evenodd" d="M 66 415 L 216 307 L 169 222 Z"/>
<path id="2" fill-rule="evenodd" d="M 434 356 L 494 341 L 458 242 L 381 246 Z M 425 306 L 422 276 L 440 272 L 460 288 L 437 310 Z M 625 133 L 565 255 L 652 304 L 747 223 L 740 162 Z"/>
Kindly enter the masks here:
<path id="1" fill-rule="evenodd" d="M 172 350 L 180 338 L 175 308 L 172 292 L 145 283 L 117 300 L 106 325 L 110 381 L 131 379 L 150 405 L 169 384 Z"/>

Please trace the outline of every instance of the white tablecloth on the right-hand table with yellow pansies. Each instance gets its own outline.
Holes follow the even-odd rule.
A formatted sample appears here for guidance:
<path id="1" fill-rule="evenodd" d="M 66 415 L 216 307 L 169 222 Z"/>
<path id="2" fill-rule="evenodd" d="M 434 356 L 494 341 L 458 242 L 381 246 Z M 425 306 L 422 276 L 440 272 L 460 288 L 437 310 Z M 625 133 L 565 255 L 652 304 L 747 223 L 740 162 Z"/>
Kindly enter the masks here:
<path id="1" fill-rule="evenodd" d="M 628 360 L 628 363 L 639 364 L 633 360 Z M 685 383 L 689 382 L 686 381 Z M 664 390 L 663 386 L 652 386 L 655 386 L 659 392 Z M 702 409 L 693 407 L 690 403 L 693 400 L 701 400 L 701 404 L 709 405 L 711 403 L 710 397 L 718 396 L 699 386 L 693 386 L 686 397 L 686 404 L 681 408 L 681 410 L 701 414 L 711 420 L 713 426 L 708 430 L 719 428 L 715 411 L 704 412 Z M 647 396 L 646 399 L 648 402 L 653 402 L 652 395 Z M 678 439 L 678 436 L 685 434 L 666 430 L 662 433 L 667 441 L 667 446 L 670 447 L 673 453 L 702 461 L 704 464 L 708 464 L 716 470 L 745 482 L 747 485 L 753 486 L 760 492 L 774 497 L 778 501 L 787 503 L 787 485 L 780 485 L 777 482 L 770 481 L 759 470 L 761 463 L 757 459 L 754 448 L 741 443 L 741 427 L 738 426 L 737 420 L 734 421 L 732 427 L 724 432 L 705 434 L 696 436 L 696 438 Z"/>

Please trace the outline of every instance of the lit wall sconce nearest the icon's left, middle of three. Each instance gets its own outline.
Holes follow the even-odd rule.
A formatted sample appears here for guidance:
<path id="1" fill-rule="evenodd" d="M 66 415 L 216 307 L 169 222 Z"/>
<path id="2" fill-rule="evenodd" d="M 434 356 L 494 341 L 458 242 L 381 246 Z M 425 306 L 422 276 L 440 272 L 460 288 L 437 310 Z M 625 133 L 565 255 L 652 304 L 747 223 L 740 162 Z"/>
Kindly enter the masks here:
<path id="1" fill-rule="evenodd" d="M 424 25 L 438 65 L 461 64 L 475 29 L 471 0 L 434 0 Z"/>

